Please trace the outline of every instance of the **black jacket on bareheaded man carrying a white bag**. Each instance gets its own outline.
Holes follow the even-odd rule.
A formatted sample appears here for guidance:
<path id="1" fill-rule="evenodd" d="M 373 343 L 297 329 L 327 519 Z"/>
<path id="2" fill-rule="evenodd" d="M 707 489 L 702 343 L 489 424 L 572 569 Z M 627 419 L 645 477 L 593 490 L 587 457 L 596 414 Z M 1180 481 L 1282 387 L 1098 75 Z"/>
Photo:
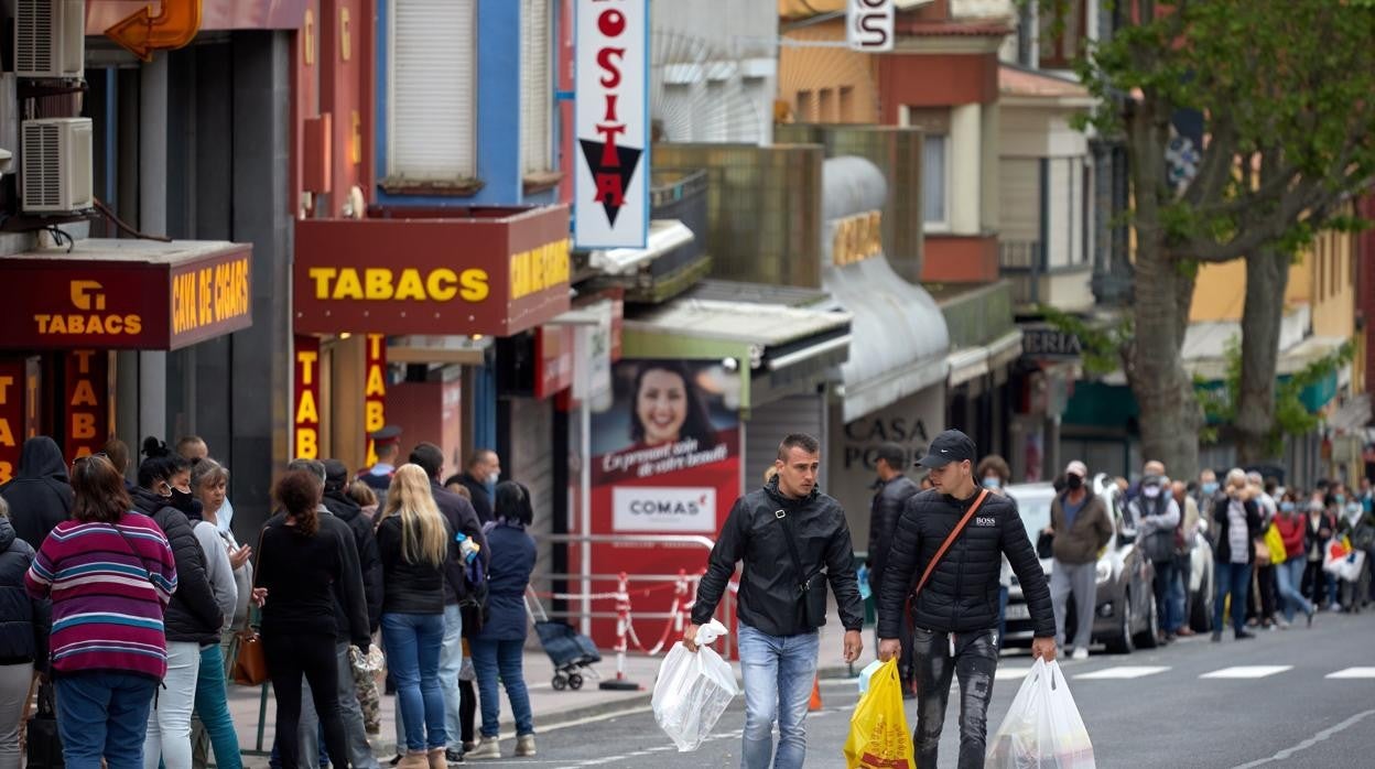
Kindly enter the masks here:
<path id="1" fill-rule="evenodd" d="M 806 575 L 796 575 L 792 565 L 784 524 L 774 516 L 780 508 L 792 516 L 798 557 Z M 778 491 L 774 479 L 736 501 L 711 550 L 707 574 L 697 586 L 697 603 L 692 609 L 696 625 L 711 620 L 738 561 L 744 561 L 745 568 L 740 575 L 737 614 L 745 625 L 770 636 L 814 630 L 803 619 L 798 583 L 824 567 L 840 608 L 840 623 L 846 630 L 864 626 L 864 604 L 846 512 L 839 502 L 815 488 L 803 499 L 791 499 Z"/>

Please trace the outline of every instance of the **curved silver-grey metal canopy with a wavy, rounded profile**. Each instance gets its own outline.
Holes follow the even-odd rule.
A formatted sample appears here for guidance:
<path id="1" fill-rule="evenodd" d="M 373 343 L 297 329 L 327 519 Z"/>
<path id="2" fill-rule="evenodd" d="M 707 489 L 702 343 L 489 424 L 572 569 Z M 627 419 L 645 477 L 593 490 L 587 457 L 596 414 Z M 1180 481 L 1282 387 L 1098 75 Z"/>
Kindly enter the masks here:
<path id="1" fill-rule="evenodd" d="M 854 343 L 837 391 L 846 422 L 945 381 L 945 316 L 931 294 L 903 281 L 881 253 L 828 268 L 822 286 L 854 314 Z"/>

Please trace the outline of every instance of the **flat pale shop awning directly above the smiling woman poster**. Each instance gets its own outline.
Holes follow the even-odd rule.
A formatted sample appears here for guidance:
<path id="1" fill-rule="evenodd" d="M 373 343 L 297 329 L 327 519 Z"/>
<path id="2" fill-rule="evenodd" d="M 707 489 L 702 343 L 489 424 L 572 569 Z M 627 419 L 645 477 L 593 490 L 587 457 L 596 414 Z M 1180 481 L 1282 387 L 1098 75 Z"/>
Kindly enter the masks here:
<path id="1" fill-rule="evenodd" d="M 807 392 L 850 356 L 852 316 L 803 310 L 678 299 L 626 318 L 626 358 L 734 359 L 741 409 Z"/>

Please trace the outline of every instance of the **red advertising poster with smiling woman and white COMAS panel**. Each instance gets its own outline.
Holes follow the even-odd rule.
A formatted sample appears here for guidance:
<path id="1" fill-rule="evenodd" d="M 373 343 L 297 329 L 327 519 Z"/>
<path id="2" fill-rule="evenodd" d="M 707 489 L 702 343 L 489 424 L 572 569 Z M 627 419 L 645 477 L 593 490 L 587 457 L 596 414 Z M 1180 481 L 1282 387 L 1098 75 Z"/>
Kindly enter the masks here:
<path id="1" fill-rule="evenodd" d="M 620 360 L 609 406 L 591 414 L 591 532 L 648 535 L 591 548 L 593 574 L 697 574 L 708 549 L 674 537 L 715 541 L 740 495 L 740 377 L 718 360 Z M 573 554 L 576 559 L 576 554 Z M 571 570 L 578 571 L 578 564 Z M 631 587 L 664 585 L 631 581 Z M 667 612 L 672 587 L 632 596 L 632 612 Z M 598 582 L 594 590 L 615 585 Z M 609 603 L 597 611 L 610 611 Z M 645 645 L 666 619 L 635 620 Z M 593 623 L 593 638 L 615 642 L 615 620 Z"/>

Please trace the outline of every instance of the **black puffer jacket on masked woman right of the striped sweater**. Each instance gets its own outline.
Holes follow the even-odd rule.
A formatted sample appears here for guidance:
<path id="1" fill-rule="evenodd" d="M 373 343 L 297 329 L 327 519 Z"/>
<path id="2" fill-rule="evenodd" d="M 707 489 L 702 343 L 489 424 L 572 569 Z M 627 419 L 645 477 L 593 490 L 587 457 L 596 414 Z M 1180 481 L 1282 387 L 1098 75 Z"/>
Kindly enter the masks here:
<path id="1" fill-rule="evenodd" d="M 164 615 L 168 641 L 219 644 L 224 615 L 205 572 L 205 552 L 186 513 L 147 488 L 133 490 L 133 509 L 151 517 L 172 546 L 176 559 L 176 593 Z"/>

